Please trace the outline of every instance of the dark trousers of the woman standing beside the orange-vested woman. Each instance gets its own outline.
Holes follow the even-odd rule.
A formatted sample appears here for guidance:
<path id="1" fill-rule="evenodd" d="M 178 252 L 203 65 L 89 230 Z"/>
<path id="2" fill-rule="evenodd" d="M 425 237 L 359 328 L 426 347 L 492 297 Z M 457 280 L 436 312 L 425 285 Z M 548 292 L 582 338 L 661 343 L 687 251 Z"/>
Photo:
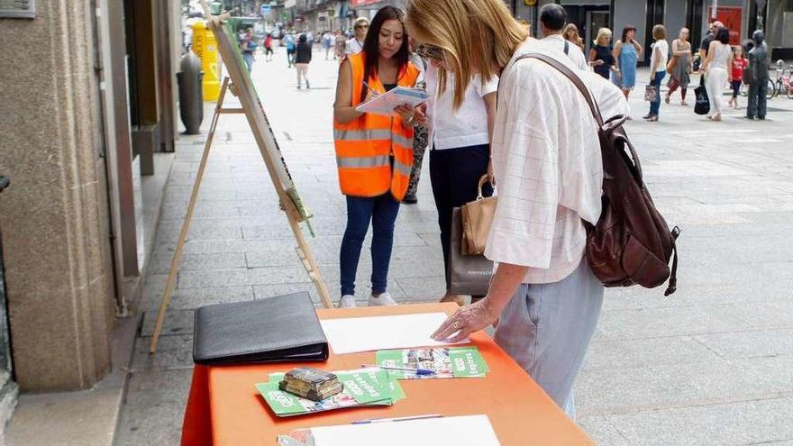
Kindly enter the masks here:
<path id="1" fill-rule="evenodd" d="M 488 173 L 490 146 L 460 147 L 430 151 L 430 181 L 433 183 L 438 225 L 441 227 L 443 267 L 446 271 L 446 290 L 449 290 L 449 246 L 451 245 L 451 211 L 477 199 L 479 178 Z M 493 188 L 486 184 L 484 196 L 492 196 Z"/>

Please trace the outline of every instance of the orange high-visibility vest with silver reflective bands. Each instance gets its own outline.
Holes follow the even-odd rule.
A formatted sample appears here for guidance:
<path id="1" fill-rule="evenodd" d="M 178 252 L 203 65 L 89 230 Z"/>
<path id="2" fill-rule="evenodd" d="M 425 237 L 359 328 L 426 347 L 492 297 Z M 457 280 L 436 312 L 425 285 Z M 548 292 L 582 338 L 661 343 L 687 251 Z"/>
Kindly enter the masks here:
<path id="1" fill-rule="evenodd" d="M 361 103 L 365 54 L 348 56 L 352 68 L 352 106 Z M 399 86 L 415 86 L 418 68 L 408 62 L 396 77 Z M 377 74 L 367 84 L 385 92 Z M 413 127 L 404 128 L 398 115 L 362 114 L 351 123 L 333 120 L 333 141 L 339 185 L 346 196 L 381 196 L 391 191 L 402 201 L 413 167 Z M 392 160 L 393 157 L 393 160 Z"/>

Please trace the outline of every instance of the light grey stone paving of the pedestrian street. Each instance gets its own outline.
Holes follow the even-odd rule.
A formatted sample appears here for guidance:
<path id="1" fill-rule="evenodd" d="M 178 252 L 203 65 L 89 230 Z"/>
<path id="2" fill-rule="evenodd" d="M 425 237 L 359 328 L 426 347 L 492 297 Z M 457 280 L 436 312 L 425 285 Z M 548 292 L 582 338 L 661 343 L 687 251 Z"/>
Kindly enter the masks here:
<path id="1" fill-rule="evenodd" d="M 296 89 L 284 50 L 274 62 L 260 57 L 253 70 L 292 177 L 314 213 L 310 244 L 334 299 L 346 221 L 333 154 L 336 68 L 314 52 L 311 90 Z M 641 70 L 638 78 L 626 129 L 656 205 L 683 230 L 678 292 L 606 291 L 576 384 L 578 423 L 605 445 L 793 445 L 793 101 L 771 100 L 765 122 L 741 119 L 742 109 L 713 123 L 679 105 L 676 94 L 661 106 L 660 122 L 646 123 L 649 74 Z M 694 103 L 690 89 L 688 102 Z M 212 115 L 206 105 L 204 128 Z M 223 115 L 160 350 L 148 354 L 204 140 L 205 132 L 178 141 L 138 305 L 144 322 L 119 445 L 178 444 L 197 307 L 297 290 L 310 291 L 319 305 L 247 123 Z M 400 303 L 432 302 L 444 290 L 426 164 L 418 205 L 403 205 L 396 223 L 389 291 Z M 369 274 L 364 250 L 361 305 Z"/>

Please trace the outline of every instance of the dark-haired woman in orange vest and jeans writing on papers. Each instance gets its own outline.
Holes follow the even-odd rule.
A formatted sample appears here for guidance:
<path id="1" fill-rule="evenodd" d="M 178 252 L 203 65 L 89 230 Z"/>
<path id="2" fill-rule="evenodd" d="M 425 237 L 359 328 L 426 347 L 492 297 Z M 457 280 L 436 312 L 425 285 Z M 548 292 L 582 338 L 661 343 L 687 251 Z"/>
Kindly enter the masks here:
<path id="1" fill-rule="evenodd" d="M 419 70 L 409 61 L 404 14 L 393 6 L 378 11 L 363 50 L 342 60 L 333 105 L 339 185 L 347 199 L 347 228 L 340 252 L 340 307 L 355 306 L 355 276 L 369 222 L 372 275 L 369 305 L 396 305 L 387 292 L 388 266 L 399 202 L 413 165 L 413 127 L 425 123 L 414 107 L 397 106 L 393 116 L 361 113 L 366 98 L 396 86 L 415 86 Z"/>

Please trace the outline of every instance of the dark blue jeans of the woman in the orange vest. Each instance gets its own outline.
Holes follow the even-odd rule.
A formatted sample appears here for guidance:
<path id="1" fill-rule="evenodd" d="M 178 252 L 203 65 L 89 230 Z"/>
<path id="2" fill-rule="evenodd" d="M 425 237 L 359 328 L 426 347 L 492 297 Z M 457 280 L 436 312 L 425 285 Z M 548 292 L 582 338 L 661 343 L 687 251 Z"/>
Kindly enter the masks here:
<path id="1" fill-rule="evenodd" d="M 394 223 L 399 214 L 399 202 L 390 192 L 382 196 L 347 196 L 347 229 L 342 238 L 340 264 L 342 296 L 355 295 L 355 275 L 358 272 L 360 249 L 372 225 L 372 294 L 386 292 L 388 265 L 394 246 Z"/>

